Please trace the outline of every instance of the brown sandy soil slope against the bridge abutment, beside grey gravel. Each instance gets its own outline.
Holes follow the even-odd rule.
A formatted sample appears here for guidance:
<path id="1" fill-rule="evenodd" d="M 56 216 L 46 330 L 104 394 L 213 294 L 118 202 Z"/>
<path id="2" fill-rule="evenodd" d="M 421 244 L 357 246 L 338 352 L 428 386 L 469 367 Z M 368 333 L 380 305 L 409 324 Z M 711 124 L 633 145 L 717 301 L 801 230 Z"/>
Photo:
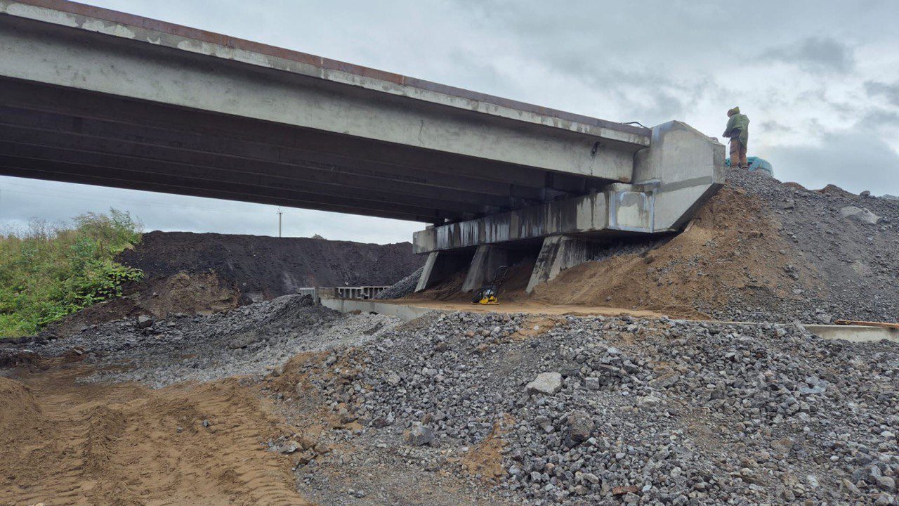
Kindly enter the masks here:
<path id="1" fill-rule="evenodd" d="M 781 237 L 781 229 L 778 217 L 761 200 L 726 187 L 680 235 L 639 253 L 565 270 L 538 285 L 533 298 L 649 309 L 685 318 L 710 316 L 707 311 L 731 302 L 734 290 L 757 303 L 798 299 L 794 290 L 817 289 L 820 283 L 814 267 L 797 262 L 797 252 Z"/>

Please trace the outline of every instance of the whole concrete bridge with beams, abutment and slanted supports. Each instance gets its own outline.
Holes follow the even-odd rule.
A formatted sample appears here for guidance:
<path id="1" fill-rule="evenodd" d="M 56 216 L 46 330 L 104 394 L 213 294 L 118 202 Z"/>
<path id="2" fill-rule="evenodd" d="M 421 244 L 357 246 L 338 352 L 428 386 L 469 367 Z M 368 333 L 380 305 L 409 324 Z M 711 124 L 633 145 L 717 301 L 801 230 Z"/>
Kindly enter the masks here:
<path id="1" fill-rule="evenodd" d="M 422 221 L 419 289 L 678 230 L 724 146 L 65 0 L 0 0 L 0 174 Z"/>

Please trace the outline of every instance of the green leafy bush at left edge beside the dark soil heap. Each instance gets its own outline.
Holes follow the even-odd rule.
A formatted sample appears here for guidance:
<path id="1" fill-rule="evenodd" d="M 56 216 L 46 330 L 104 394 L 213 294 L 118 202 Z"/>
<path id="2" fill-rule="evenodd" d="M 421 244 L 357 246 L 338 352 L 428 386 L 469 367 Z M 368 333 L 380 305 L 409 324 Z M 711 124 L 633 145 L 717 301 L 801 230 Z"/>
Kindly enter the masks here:
<path id="1" fill-rule="evenodd" d="M 121 295 L 143 273 L 114 261 L 140 241 L 128 212 L 88 212 L 64 227 L 32 221 L 0 235 L 0 338 L 33 334 L 51 321 Z"/>

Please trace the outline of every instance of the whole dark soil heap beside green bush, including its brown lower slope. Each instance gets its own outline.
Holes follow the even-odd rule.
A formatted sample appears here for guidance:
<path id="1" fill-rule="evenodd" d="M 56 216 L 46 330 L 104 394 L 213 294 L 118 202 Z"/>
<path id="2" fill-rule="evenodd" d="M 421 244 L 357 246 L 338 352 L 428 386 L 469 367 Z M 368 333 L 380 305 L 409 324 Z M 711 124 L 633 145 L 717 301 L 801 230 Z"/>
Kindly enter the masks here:
<path id="1" fill-rule="evenodd" d="M 125 295 L 94 304 L 46 332 L 67 336 L 138 315 L 211 314 L 296 294 L 304 286 L 392 285 L 424 257 L 412 244 L 153 231 L 117 260 L 144 271 Z"/>

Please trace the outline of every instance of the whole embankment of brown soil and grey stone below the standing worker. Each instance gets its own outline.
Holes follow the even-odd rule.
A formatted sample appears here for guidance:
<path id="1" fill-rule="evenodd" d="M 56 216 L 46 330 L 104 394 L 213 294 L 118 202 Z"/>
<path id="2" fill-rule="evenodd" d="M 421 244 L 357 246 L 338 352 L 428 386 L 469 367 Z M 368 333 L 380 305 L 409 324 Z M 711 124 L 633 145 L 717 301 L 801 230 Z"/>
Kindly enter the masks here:
<path id="1" fill-rule="evenodd" d="M 681 318 L 899 319 L 899 204 L 729 169 L 685 231 L 611 244 L 531 297 Z"/>

